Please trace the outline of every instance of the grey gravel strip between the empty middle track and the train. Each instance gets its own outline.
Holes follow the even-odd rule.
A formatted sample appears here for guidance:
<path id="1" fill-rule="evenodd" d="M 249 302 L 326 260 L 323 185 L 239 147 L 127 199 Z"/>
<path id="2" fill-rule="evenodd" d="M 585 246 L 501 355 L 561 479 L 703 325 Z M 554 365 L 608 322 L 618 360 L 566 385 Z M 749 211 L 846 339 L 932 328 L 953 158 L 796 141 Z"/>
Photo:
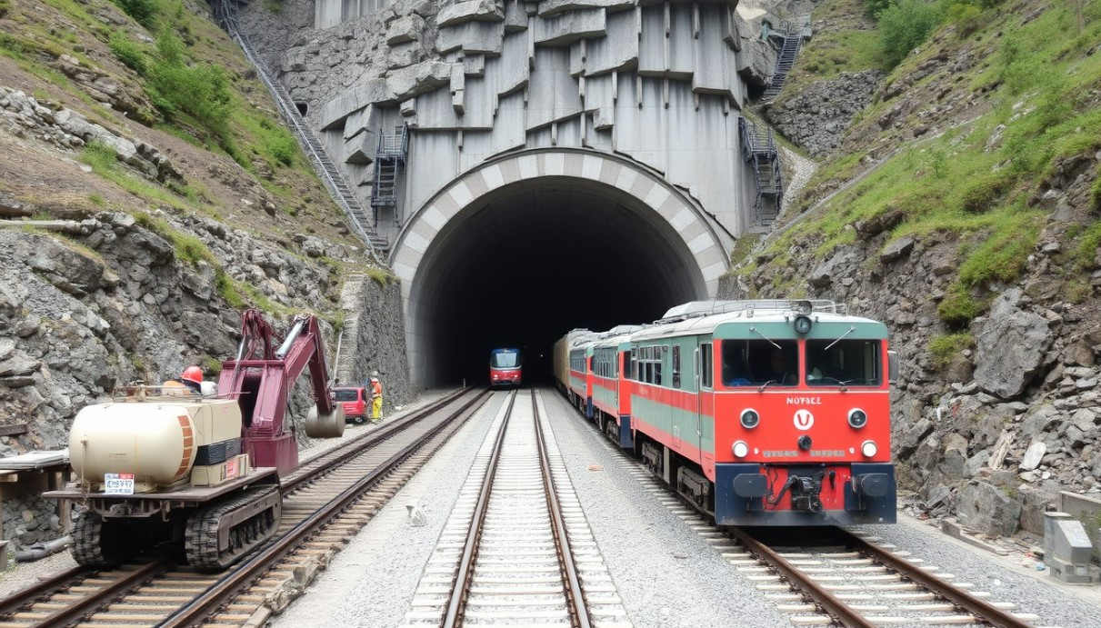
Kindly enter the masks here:
<path id="1" fill-rule="evenodd" d="M 543 399 L 574 489 L 636 628 L 791 627 L 717 549 L 658 503 L 668 492 L 641 485 L 631 473 L 637 466 L 556 392 L 544 389 Z"/>

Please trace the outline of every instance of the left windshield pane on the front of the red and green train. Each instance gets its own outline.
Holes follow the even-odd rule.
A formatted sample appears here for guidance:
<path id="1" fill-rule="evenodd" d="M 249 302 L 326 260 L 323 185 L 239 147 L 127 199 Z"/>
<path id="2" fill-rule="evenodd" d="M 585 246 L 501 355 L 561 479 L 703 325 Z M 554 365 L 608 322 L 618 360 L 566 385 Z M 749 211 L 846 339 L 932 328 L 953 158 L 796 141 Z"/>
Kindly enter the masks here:
<path id="1" fill-rule="evenodd" d="M 795 386 L 798 345 L 794 340 L 722 341 L 723 386 Z"/>

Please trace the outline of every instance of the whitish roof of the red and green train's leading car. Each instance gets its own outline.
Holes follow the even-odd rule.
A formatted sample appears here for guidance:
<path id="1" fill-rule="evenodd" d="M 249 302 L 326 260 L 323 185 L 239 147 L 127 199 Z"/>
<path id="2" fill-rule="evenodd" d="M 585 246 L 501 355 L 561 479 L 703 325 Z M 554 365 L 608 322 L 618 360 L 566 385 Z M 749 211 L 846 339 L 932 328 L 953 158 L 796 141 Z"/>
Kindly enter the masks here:
<path id="1" fill-rule="evenodd" d="M 669 309 L 665 318 L 631 334 L 632 341 L 713 333 L 726 323 L 782 322 L 798 316 L 809 316 L 816 323 L 869 323 L 886 328 L 882 322 L 848 315 L 843 304 L 826 300 L 740 300 L 693 301 Z"/>

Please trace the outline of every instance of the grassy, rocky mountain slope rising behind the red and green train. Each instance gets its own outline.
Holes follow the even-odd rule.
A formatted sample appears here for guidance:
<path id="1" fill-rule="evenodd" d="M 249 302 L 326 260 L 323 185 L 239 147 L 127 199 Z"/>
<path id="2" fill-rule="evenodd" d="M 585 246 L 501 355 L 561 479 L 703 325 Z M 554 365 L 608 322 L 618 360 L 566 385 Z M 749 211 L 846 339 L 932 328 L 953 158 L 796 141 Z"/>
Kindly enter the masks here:
<path id="1" fill-rule="evenodd" d="M 889 74 L 723 293 L 885 320 L 902 485 L 1039 532 L 1058 489 L 1101 492 L 1101 1 L 827 0 L 815 19 L 840 26 L 778 102 Z"/>

